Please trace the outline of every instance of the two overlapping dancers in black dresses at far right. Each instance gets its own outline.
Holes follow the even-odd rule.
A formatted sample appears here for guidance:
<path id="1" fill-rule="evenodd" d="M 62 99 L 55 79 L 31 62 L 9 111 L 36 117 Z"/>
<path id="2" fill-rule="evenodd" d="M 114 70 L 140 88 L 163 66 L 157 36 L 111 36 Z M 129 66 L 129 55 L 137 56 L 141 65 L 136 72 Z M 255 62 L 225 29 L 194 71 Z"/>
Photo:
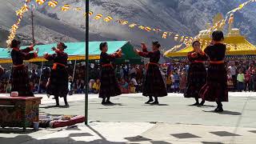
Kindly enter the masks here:
<path id="1" fill-rule="evenodd" d="M 205 101 L 217 102 L 216 112 L 222 112 L 222 102 L 228 102 L 225 54 L 226 45 L 222 44 L 224 35 L 222 31 L 214 31 L 212 42 L 204 51 L 200 42 L 193 42 L 194 50 L 188 54 L 190 68 L 185 98 L 195 98 L 194 106 L 202 106 Z M 204 63 L 210 60 L 210 66 L 206 72 Z M 198 102 L 202 98 L 202 102 Z"/>

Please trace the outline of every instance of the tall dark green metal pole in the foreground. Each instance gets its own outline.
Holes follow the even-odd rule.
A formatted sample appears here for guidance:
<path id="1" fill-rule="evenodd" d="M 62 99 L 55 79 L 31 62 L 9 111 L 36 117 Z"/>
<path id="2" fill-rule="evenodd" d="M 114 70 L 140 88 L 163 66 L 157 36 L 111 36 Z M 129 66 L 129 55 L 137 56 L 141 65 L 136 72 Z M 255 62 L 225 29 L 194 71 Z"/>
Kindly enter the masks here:
<path id="1" fill-rule="evenodd" d="M 89 61 L 89 0 L 86 1 L 86 102 L 85 102 L 85 116 L 86 116 L 86 125 L 88 125 L 88 61 Z"/>

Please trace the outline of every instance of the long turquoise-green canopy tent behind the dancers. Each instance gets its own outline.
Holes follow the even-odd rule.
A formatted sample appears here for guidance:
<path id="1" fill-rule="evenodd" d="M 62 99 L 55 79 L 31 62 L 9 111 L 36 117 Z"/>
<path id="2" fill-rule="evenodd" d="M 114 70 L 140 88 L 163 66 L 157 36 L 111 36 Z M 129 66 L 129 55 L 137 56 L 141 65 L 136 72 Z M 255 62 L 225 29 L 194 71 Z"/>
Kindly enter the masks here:
<path id="1" fill-rule="evenodd" d="M 90 42 L 90 50 L 89 50 L 89 59 L 90 60 L 98 60 L 100 58 L 101 50 L 99 50 L 99 45 L 101 42 Z M 116 59 L 116 63 L 134 63 L 140 64 L 142 63 L 142 58 L 135 54 L 134 47 L 127 41 L 110 41 L 108 43 L 108 53 L 112 54 L 118 49 L 122 49 L 122 58 Z M 69 60 L 84 60 L 86 57 L 85 50 L 85 42 L 65 42 L 67 49 L 65 50 L 67 54 L 69 54 Z M 39 49 L 38 58 L 31 59 L 28 62 L 44 62 L 46 61 L 43 58 L 43 54 L 46 52 L 49 54 L 54 54 L 54 51 L 51 50 L 52 47 L 57 46 L 57 43 L 49 44 L 49 45 L 38 45 L 35 48 Z M 25 48 L 26 46 L 22 46 Z M 10 63 L 12 62 L 10 58 L 10 51 L 2 48 L 0 50 L 0 63 Z"/>

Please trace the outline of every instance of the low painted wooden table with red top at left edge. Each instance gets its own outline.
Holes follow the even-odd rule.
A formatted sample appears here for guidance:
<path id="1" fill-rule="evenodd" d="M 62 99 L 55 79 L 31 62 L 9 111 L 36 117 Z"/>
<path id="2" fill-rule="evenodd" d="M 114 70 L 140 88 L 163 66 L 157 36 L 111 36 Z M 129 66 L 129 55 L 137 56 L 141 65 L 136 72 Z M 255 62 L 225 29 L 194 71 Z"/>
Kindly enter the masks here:
<path id="1" fill-rule="evenodd" d="M 0 97 L 0 126 L 32 127 L 39 121 L 42 97 Z"/>

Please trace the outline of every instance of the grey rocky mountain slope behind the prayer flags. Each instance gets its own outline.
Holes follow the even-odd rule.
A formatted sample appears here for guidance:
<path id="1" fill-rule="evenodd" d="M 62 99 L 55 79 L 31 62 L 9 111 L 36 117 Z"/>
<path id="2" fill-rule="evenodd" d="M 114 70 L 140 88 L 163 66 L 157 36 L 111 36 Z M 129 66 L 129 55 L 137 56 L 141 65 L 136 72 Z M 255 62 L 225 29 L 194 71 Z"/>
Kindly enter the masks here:
<path id="1" fill-rule="evenodd" d="M 169 49 L 177 45 L 172 38 L 162 38 L 162 34 L 146 32 L 138 28 L 130 29 L 121 26 L 118 22 L 104 22 L 102 19 L 94 20 L 95 14 L 103 17 L 112 16 L 114 20 L 126 19 L 128 22 L 138 22 L 142 26 L 150 26 L 162 30 L 174 31 L 178 34 L 194 36 L 199 30 L 206 29 L 206 23 L 212 22 L 215 14 L 226 14 L 229 10 L 239 6 L 246 0 L 92 0 L 90 10 L 94 15 L 90 17 L 90 40 L 130 40 L 138 46 L 140 42 L 158 40 L 163 47 Z M 5 4 L 0 5 L 1 35 L 14 23 L 15 14 L 20 3 L 15 0 L 0 0 Z M 85 1 L 61 0 L 58 6 L 38 6 L 35 12 L 36 40 L 41 43 L 62 41 L 83 41 L 85 38 L 84 10 L 68 10 L 62 12 L 60 6 L 70 4 L 74 7 L 85 8 Z M 245 9 L 234 14 L 234 26 L 240 28 L 242 34 L 256 44 L 256 2 L 246 6 Z M 3 31 L 3 32 L 2 32 Z M 22 39 L 27 43 L 30 36 L 30 14 L 26 14 L 22 27 L 18 30 Z M 2 37 L 0 37 L 2 38 Z M 3 38 L 4 39 L 4 38 Z M 1 42 L 3 41 L 0 39 Z"/>

